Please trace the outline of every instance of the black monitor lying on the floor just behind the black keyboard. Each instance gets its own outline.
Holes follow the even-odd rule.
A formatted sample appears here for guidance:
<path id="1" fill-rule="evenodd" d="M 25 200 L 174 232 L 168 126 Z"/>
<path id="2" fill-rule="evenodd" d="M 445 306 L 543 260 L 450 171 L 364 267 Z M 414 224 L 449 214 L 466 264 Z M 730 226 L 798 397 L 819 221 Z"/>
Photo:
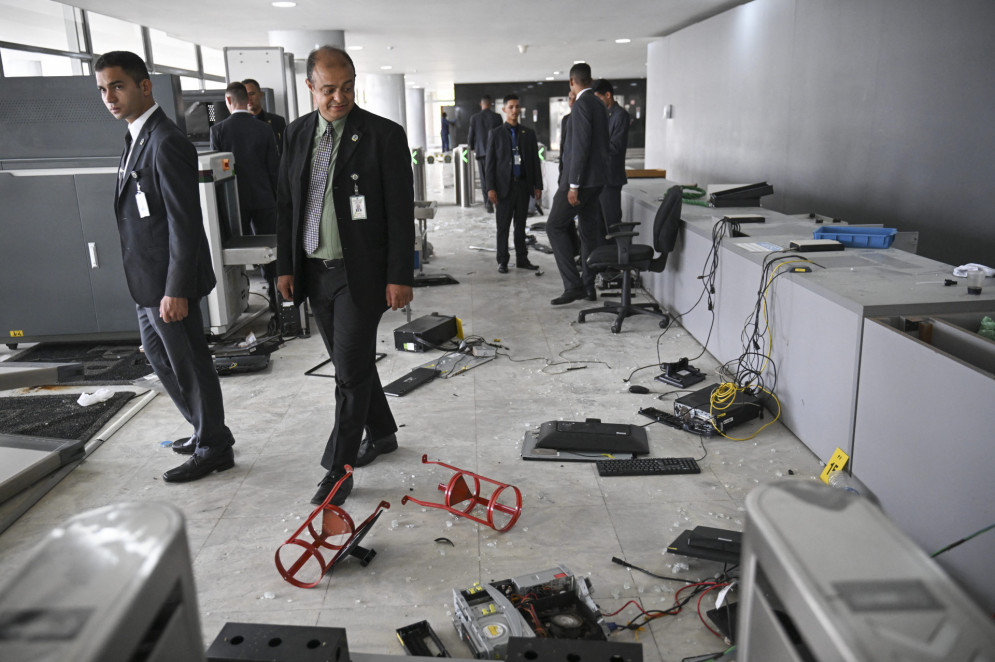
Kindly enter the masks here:
<path id="1" fill-rule="evenodd" d="M 650 452 L 646 430 L 639 425 L 585 421 L 546 421 L 529 430 L 522 440 L 523 460 L 593 462 L 605 455 L 646 455 Z"/>

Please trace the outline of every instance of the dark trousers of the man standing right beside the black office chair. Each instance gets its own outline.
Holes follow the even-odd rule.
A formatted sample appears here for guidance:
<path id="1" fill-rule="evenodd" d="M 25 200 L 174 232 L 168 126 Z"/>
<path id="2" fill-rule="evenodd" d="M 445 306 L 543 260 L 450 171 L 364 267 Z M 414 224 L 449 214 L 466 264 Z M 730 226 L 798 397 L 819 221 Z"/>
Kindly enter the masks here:
<path id="1" fill-rule="evenodd" d="M 601 186 L 578 189 L 580 204 L 571 207 L 567 201 L 570 187 L 561 185 L 553 196 L 553 207 L 546 218 L 546 238 L 556 258 L 556 268 L 563 279 L 563 290 L 594 290 L 594 272 L 587 268 L 587 256 L 597 248 L 598 241 L 605 233 L 601 221 L 601 205 L 598 196 Z M 577 217 L 577 232 L 580 235 L 581 273 L 574 265 L 574 243 L 570 226 Z"/>

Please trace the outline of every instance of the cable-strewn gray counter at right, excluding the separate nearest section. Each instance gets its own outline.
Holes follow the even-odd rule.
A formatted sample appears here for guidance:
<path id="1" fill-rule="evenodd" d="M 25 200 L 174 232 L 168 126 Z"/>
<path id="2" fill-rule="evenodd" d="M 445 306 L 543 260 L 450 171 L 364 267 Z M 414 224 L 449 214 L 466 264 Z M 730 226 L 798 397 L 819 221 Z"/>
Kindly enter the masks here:
<path id="1" fill-rule="evenodd" d="M 673 184 L 642 180 L 622 189 L 626 217 L 641 224 L 638 241 L 652 243 L 659 198 Z M 741 231 L 748 237 L 722 240 L 709 336 L 713 322 L 704 300 L 692 308 L 702 291 L 698 277 L 708 268 L 712 227 L 726 214 L 746 213 L 759 213 L 766 222 L 744 224 Z M 644 283 L 672 313 L 687 313 L 681 324 L 713 356 L 730 361 L 743 351 L 743 326 L 756 303 L 761 266 L 768 255 L 751 252 L 743 244 L 766 241 L 787 248 L 792 239 L 810 239 L 820 226 L 757 208 L 685 205 L 681 217 L 685 222 L 677 252 L 663 273 L 644 274 Z M 828 460 L 836 447 L 853 451 L 864 318 L 991 308 L 995 287 L 985 288 L 980 297 L 967 294 L 964 285 L 944 287 L 952 267 L 896 249 L 846 249 L 806 257 L 821 266 L 812 265 L 811 273 L 779 277 L 768 296 L 771 358 L 778 369 L 782 420 L 816 455 Z"/>

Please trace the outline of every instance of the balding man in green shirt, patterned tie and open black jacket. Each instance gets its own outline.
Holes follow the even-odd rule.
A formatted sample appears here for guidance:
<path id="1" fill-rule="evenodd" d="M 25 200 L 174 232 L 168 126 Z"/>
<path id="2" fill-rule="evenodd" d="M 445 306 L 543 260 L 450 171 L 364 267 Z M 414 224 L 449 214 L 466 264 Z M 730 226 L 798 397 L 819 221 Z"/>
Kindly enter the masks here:
<path id="1" fill-rule="evenodd" d="M 397 449 L 375 363 L 377 325 L 412 299 L 414 184 L 404 129 L 355 105 L 356 68 L 338 48 L 307 59 L 316 111 L 287 127 L 277 188 L 277 287 L 310 299 L 335 366 L 335 424 L 312 503 L 345 475 Z M 367 433 L 366 438 L 363 433 Z M 341 505 L 352 478 L 332 498 Z"/>

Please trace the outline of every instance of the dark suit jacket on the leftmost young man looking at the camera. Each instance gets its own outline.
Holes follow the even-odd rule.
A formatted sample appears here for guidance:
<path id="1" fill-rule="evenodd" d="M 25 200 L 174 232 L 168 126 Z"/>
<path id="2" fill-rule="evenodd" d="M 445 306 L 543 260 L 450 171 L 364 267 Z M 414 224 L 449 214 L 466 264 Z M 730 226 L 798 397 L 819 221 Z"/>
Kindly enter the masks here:
<path id="1" fill-rule="evenodd" d="M 124 171 L 114 212 L 135 303 L 154 308 L 163 296 L 209 293 L 216 280 L 200 213 L 197 150 L 162 108 L 145 122 Z M 149 208 L 144 218 L 139 188 Z"/>

